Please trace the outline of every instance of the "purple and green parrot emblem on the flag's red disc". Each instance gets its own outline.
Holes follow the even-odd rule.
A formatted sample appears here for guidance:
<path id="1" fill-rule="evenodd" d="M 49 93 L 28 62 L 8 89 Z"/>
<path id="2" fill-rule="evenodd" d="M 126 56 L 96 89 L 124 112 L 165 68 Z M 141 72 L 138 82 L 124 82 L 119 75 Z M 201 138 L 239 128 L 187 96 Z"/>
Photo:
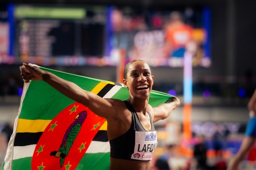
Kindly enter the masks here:
<path id="1" fill-rule="evenodd" d="M 81 111 L 78 115 L 76 115 L 75 121 L 67 128 L 58 151 L 55 150 L 50 153 L 50 156 L 55 156 L 56 158 L 60 157 L 61 167 L 63 167 L 65 157 L 69 153 L 69 150 L 74 143 L 86 117 L 87 111 Z"/>

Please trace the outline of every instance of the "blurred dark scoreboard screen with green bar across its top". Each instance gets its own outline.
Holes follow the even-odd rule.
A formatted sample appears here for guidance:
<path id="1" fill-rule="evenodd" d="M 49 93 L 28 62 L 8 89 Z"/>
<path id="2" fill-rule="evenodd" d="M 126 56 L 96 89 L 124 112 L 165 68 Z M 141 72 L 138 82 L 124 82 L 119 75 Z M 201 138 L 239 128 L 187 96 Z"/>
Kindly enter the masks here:
<path id="1" fill-rule="evenodd" d="M 15 56 L 102 57 L 105 8 L 15 7 Z"/>

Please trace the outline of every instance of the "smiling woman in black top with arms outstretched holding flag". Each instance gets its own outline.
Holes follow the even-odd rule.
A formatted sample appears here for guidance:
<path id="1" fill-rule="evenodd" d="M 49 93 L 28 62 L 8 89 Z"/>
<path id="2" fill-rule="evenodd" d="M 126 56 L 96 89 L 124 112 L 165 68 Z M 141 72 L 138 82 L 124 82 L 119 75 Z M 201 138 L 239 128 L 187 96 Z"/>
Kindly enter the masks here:
<path id="1" fill-rule="evenodd" d="M 153 122 L 166 119 L 180 105 L 176 97 L 172 102 L 155 108 L 148 104 L 154 77 L 142 60 L 131 61 L 125 66 L 123 84 L 130 94 L 126 101 L 103 99 L 73 82 L 25 63 L 20 66 L 20 72 L 24 82 L 44 80 L 70 99 L 107 119 L 111 170 L 148 170 L 157 144 Z"/>

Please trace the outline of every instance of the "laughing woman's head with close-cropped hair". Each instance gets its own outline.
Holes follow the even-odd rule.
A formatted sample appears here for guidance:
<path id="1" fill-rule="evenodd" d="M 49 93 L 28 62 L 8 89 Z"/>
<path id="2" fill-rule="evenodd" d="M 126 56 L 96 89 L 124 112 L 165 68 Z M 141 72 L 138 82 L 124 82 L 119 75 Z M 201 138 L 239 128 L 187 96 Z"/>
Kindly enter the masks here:
<path id="1" fill-rule="evenodd" d="M 154 77 L 147 63 L 143 61 L 133 62 L 127 71 L 127 78 L 123 80 L 123 84 L 128 88 L 132 98 L 149 97 L 152 90 Z"/>

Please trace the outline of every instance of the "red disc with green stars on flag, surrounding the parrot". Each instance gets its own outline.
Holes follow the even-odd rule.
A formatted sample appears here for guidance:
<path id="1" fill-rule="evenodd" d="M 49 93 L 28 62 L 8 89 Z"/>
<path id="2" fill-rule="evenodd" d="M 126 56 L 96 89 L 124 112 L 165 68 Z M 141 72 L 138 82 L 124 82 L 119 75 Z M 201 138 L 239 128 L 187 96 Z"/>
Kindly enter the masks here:
<path id="1" fill-rule="evenodd" d="M 65 134 L 73 127 L 76 116 L 81 112 L 85 113 L 84 111 L 87 112 L 87 117 L 75 136 L 61 167 L 60 157 L 50 154 L 59 150 L 63 139 L 65 139 Z M 74 170 L 104 122 L 105 118 L 97 116 L 78 102 L 69 105 L 52 119 L 42 133 L 32 157 L 32 170 Z"/>

